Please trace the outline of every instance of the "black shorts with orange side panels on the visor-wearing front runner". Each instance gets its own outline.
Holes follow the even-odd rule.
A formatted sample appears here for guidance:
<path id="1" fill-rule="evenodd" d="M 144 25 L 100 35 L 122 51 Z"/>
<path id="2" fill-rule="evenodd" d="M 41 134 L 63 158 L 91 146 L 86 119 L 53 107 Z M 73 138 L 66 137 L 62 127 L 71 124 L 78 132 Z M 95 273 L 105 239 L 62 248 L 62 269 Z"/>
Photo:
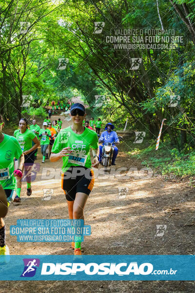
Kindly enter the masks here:
<path id="1" fill-rule="evenodd" d="M 94 181 L 93 169 L 73 166 L 61 175 L 61 188 L 64 190 L 66 199 L 74 201 L 77 192 L 89 195 L 94 187 Z"/>

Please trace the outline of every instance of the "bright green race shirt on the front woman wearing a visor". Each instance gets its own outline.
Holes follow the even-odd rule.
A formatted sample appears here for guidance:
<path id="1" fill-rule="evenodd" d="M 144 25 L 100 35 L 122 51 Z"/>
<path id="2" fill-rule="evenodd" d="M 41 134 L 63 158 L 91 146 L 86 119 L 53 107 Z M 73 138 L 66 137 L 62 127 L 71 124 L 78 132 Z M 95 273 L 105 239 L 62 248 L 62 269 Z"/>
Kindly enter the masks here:
<path id="1" fill-rule="evenodd" d="M 62 148 L 68 146 L 73 152 L 67 157 L 62 157 L 62 172 L 66 172 L 71 166 L 90 168 L 90 148 L 98 148 L 97 133 L 86 127 L 82 134 L 76 134 L 71 126 L 61 129 L 52 147 L 52 152 L 59 153 Z"/>

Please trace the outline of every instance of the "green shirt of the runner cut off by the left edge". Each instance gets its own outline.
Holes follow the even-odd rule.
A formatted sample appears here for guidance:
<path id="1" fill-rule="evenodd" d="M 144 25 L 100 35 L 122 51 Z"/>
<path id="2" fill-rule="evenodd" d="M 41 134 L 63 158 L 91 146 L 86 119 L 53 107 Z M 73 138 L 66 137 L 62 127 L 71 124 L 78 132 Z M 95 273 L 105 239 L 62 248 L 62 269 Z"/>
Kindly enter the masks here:
<path id="1" fill-rule="evenodd" d="M 14 177 L 14 158 L 19 159 L 22 154 L 21 147 L 17 139 L 4 134 L 4 139 L 0 143 L 0 185 L 3 189 L 17 189 L 16 177 Z M 7 178 L 7 179 L 3 179 Z"/>

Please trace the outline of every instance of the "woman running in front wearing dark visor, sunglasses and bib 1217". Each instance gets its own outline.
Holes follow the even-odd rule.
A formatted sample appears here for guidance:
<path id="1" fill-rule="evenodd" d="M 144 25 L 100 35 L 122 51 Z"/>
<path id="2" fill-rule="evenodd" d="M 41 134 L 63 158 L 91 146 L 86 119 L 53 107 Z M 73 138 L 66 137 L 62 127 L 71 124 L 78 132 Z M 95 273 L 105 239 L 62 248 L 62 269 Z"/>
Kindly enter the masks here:
<path id="1" fill-rule="evenodd" d="M 94 186 L 94 171 L 98 167 L 98 136 L 82 126 L 86 117 L 85 107 L 79 103 L 70 109 L 72 126 L 62 129 L 52 147 L 51 162 L 62 158 L 62 182 L 70 219 L 83 219 L 83 209 Z M 93 162 L 90 160 L 90 148 L 93 152 Z M 75 255 L 81 254 L 81 242 L 72 242 Z"/>

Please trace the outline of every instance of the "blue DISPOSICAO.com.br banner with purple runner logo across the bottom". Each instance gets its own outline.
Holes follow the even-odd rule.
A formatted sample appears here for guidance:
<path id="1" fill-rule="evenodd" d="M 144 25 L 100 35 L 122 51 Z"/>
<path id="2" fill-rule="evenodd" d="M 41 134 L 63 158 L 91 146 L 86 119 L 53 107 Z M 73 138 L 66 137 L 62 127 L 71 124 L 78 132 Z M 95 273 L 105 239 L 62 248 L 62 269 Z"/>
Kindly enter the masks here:
<path id="1" fill-rule="evenodd" d="M 195 280 L 195 255 L 3 257 L 0 280 Z"/>

